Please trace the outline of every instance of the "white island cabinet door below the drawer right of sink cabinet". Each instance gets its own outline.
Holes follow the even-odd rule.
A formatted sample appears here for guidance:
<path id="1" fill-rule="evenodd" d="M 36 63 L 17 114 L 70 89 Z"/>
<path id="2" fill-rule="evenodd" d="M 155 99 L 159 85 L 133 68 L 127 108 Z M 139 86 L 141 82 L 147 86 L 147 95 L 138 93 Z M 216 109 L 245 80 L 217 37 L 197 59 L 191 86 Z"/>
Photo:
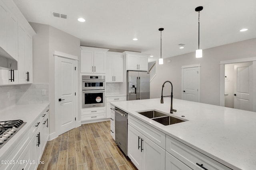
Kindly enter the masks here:
<path id="1" fill-rule="evenodd" d="M 166 152 L 165 155 L 165 170 L 192 170 L 183 162 L 176 159 L 174 156 Z"/>

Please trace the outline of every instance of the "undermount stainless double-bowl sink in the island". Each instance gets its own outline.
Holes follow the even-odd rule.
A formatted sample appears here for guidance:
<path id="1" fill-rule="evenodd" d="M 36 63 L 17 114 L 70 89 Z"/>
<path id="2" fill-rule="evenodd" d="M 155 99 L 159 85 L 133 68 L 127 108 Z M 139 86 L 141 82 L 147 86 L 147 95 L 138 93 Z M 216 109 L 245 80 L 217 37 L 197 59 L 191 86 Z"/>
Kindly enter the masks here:
<path id="1" fill-rule="evenodd" d="M 162 125 L 172 125 L 175 123 L 181 123 L 181 122 L 186 121 L 186 120 L 178 119 L 173 116 L 169 116 L 169 115 L 167 115 L 167 113 L 165 114 L 165 113 L 162 113 L 162 112 L 156 111 L 156 110 L 141 111 L 141 112 L 137 112 L 137 113 L 144 115 L 158 123 L 161 123 Z"/>

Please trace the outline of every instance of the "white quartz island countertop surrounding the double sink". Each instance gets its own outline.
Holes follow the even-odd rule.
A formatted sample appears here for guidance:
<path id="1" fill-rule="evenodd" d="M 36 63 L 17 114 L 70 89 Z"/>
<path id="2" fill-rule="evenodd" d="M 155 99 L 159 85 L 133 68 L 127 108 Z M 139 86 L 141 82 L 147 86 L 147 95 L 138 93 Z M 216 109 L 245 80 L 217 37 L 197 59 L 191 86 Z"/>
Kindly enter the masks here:
<path id="1" fill-rule="evenodd" d="M 188 121 L 165 126 L 136 111 L 170 113 L 170 98 L 111 104 L 229 168 L 256 170 L 256 112 L 174 99 L 172 115 Z"/>

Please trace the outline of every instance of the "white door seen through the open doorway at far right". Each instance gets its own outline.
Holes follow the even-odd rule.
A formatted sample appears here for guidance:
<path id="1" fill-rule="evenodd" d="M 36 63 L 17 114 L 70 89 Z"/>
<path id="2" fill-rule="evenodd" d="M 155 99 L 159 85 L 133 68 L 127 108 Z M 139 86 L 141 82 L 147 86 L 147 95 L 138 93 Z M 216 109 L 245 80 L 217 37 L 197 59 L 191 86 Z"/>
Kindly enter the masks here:
<path id="1" fill-rule="evenodd" d="M 252 62 L 234 66 L 234 108 L 252 111 Z"/>

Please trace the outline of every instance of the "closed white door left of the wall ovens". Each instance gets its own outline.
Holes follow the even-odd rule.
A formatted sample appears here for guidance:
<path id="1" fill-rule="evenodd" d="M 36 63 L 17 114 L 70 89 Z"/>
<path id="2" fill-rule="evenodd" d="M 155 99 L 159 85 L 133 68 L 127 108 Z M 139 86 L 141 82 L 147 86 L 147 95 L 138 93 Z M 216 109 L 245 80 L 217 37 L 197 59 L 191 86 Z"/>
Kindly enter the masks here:
<path id="1" fill-rule="evenodd" d="M 75 127 L 75 60 L 58 57 L 57 59 L 58 101 L 56 101 L 56 127 L 59 134 Z"/>

